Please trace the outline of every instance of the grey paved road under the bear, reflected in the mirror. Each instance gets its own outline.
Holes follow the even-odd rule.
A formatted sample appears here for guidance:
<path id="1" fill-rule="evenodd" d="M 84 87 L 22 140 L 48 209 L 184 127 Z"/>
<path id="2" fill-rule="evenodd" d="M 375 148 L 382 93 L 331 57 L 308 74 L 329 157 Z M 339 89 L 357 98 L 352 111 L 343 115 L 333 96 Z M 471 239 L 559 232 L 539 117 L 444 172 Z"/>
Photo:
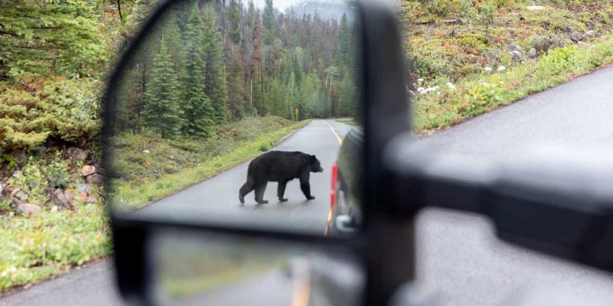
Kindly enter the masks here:
<path id="1" fill-rule="evenodd" d="M 270 182 L 264 194 L 268 204 L 256 204 L 255 193 L 251 192 L 245 196 L 245 205 L 240 205 L 238 188 L 246 181 L 249 165 L 246 162 L 152 203 L 136 214 L 145 218 L 205 220 L 223 225 L 276 226 L 283 230 L 322 234 L 330 207 L 330 168 L 340 147 L 337 135 L 343 137 L 349 129 L 349 125 L 333 120 L 314 120 L 275 147 L 279 151 L 303 151 L 316 155 L 324 172 L 311 173 L 311 193 L 315 200 L 306 200 L 299 181 L 295 179 L 287 183 L 287 202 L 278 202 L 277 184 Z"/>

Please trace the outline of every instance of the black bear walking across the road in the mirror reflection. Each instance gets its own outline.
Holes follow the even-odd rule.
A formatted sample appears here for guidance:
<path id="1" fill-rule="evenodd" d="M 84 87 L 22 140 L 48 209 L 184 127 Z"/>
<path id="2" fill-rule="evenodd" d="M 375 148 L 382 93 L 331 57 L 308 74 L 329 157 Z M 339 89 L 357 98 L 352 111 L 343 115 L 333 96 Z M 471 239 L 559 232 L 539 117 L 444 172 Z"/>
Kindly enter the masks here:
<path id="1" fill-rule="evenodd" d="M 300 189 L 307 197 L 307 200 L 313 200 L 315 197 L 311 195 L 311 185 L 309 177 L 311 172 L 322 172 L 319 160 L 315 155 L 309 155 L 303 152 L 286 152 L 286 151 L 270 151 L 259 155 L 249 163 L 247 170 L 247 182 L 240 187 L 238 192 L 238 200 L 240 203 L 245 203 L 245 195 L 251 190 L 256 190 L 256 202 L 258 204 L 266 204 L 264 200 L 264 190 L 268 182 L 278 182 L 276 195 L 279 201 L 285 202 L 283 198 L 285 193 L 285 185 L 292 179 L 300 179 Z"/>

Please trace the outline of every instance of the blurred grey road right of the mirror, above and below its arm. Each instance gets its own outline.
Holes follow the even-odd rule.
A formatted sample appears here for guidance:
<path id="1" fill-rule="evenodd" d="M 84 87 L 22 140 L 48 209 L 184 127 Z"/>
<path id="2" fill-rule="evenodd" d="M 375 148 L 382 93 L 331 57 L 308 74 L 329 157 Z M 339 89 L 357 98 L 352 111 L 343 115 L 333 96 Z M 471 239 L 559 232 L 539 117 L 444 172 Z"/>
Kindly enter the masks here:
<path id="1" fill-rule="evenodd" d="M 441 151 L 501 159 L 535 143 L 611 149 L 612 83 L 613 67 L 531 95 L 421 141 Z M 612 274 L 497 241 L 493 226 L 484 218 L 430 209 L 418 224 L 419 277 L 428 286 L 440 288 L 449 305 L 503 305 L 503 301 L 530 290 L 579 298 L 578 303 L 568 297 L 563 304 L 538 305 L 613 304 Z"/>

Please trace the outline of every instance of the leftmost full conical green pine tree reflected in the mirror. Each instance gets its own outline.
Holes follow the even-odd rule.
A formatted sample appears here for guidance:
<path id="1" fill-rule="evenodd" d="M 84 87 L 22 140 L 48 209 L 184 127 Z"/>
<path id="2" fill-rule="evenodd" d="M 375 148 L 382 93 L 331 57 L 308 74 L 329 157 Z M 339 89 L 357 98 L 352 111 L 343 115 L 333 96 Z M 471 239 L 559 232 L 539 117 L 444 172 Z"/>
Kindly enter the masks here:
<path id="1" fill-rule="evenodd" d="M 142 116 L 145 127 L 161 134 L 162 138 L 177 138 L 183 127 L 183 111 L 179 106 L 180 89 L 163 38 L 159 53 L 154 58 L 151 81 L 147 83 L 144 97 Z"/>

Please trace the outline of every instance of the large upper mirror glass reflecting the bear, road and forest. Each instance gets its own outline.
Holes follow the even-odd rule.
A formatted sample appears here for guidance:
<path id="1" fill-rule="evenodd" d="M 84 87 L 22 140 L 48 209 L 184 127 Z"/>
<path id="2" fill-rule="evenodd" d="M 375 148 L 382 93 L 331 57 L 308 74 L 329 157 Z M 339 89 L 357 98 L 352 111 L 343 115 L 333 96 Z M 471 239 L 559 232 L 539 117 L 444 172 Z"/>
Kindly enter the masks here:
<path id="1" fill-rule="evenodd" d="M 173 1 L 113 83 L 112 212 L 327 234 L 333 165 L 360 134 L 356 11 Z"/>

